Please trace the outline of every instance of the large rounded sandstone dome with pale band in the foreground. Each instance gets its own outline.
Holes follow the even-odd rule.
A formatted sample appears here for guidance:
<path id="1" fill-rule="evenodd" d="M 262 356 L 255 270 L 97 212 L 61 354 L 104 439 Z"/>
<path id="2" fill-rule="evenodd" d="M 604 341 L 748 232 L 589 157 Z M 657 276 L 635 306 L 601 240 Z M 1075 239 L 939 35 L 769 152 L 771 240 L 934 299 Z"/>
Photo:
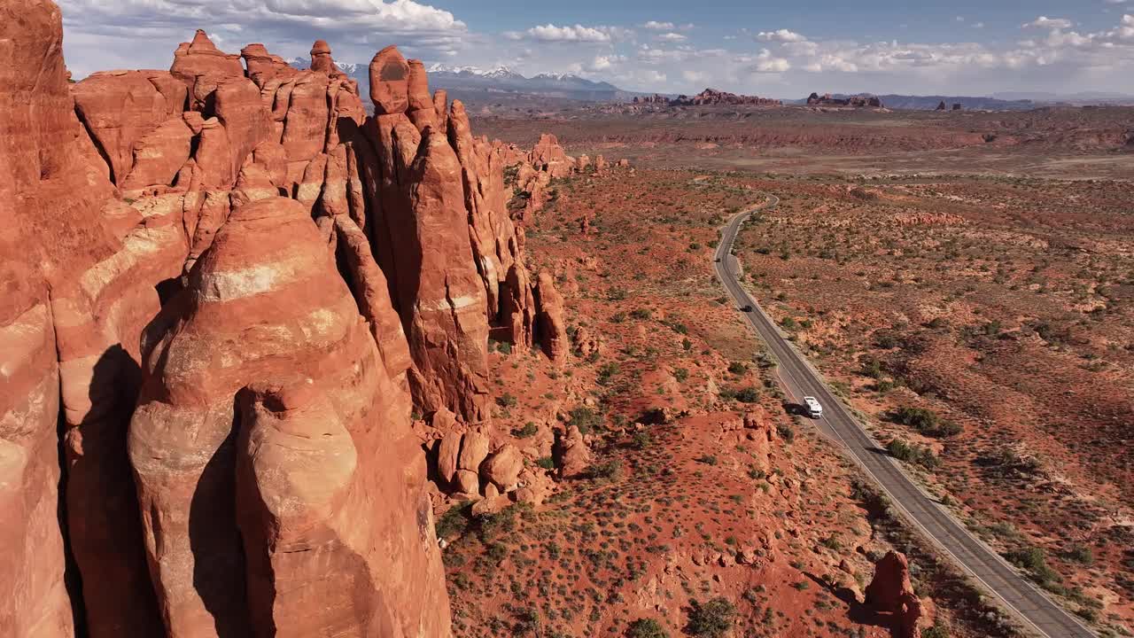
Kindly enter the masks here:
<path id="1" fill-rule="evenodd" d="M 170 631 L 447 628 L 405 404 L 301 203 L 234 210 L 144 347 L 129 451 Z M 416 515 L 376 517 L 374 502 Z M 328 563 L 342 570 L 331 584 Z"/>

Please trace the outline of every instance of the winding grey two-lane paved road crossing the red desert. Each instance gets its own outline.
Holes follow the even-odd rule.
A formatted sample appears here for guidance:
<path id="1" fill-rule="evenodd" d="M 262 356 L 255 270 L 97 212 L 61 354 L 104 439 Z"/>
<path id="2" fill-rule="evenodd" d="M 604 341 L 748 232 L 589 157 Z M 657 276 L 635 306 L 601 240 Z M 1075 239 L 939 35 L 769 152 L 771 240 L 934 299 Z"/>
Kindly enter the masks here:
<path id="1" fill-rule="evenodd" d="M 1093 638 L 1094 635 L 1074 616 L 1065 612 L 1024 577 L 1018 574 L 999 555 L 976 539 L 958 523 L 943 507 L 939 506 L 925 492 L 919 488 L 890 459 L 836 398 L 819 373 L 788 343 L 764 313 L 756 300 L 737 280 L 738 265 L 731 255 L 733 242 L 741 224 L 753 212 L 775 208 L 779 199 L 772 196 L 768 203 L 742 212 L 729 220 L 722 230 L 720 245 L 713 266 L 717 276 L 736 300 L 737 308 L 751 305 L 745 319 L 768 344 L 779 361 L 779 375 L 796 404 L 804 396 L 814 396 L 823 405 L 824 430 L 833 433 L 854 456 L 855 461 L 889 495 L 911 522 L 931 538 L 954 561 L 975 577 L 984 587 L 1039 636 L 1047 638 Z"/>

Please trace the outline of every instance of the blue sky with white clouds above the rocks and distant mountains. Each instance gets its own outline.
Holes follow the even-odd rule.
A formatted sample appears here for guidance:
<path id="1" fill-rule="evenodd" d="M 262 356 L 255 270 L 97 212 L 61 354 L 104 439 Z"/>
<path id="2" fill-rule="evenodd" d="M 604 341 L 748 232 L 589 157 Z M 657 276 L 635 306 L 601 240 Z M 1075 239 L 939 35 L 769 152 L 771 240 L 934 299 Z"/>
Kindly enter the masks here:
<path id="1" fill-rule="evenodd" d="M 1134 93 L 1134 0 L 58 0 L 82 77 L 167 68 L 208 31 L 341 61 L 386 44 L 428 64 L 573 73 L 637 91 Z"/>

